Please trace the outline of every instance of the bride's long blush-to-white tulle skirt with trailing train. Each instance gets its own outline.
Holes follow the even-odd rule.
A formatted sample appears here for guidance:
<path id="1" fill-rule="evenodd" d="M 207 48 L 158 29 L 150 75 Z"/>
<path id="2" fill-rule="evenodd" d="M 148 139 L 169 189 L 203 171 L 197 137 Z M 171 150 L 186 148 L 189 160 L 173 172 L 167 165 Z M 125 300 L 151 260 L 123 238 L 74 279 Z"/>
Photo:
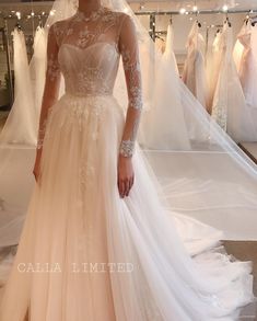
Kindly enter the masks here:
<path id="1" fill-rule="evenodd" d="M 1 321 L 229 321 L 253 300 L 250 263 L 166 208 L 138 145 L 135 185 L 119 197 L 124 125 L 112 95 L 66 93 L 49 111 Z"/>

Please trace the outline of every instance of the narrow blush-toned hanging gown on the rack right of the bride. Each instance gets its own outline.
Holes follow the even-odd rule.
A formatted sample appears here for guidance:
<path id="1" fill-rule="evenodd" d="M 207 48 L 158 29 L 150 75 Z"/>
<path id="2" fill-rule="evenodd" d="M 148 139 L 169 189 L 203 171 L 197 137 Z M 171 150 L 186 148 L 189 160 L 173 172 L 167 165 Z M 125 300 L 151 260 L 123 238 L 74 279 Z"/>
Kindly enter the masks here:
<path id="1" fill-rule="evenodd" d="M 207 76 L 205 67 L 205 39 L 200 34 L 198 21 L 191 27 L 187 39 L 187 58 L 183 81 L 202 106 L 207 106 Z"/>

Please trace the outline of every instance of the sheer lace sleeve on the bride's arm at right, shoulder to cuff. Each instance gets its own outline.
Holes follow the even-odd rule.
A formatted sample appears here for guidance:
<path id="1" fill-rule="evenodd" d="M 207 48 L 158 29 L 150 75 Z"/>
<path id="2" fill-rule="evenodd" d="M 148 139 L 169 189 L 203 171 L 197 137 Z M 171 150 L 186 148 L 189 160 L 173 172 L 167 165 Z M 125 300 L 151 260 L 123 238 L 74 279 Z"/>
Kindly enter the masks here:
<path id="1" fill-rule="evenodd" d="M 119 50 L 122 57 L 129 101 L 119 153 L 124 157 L 132 157 L 142 108 L 142 90 L 138 41 L 133 22 L 129 15 L 122 20 Z"/>

